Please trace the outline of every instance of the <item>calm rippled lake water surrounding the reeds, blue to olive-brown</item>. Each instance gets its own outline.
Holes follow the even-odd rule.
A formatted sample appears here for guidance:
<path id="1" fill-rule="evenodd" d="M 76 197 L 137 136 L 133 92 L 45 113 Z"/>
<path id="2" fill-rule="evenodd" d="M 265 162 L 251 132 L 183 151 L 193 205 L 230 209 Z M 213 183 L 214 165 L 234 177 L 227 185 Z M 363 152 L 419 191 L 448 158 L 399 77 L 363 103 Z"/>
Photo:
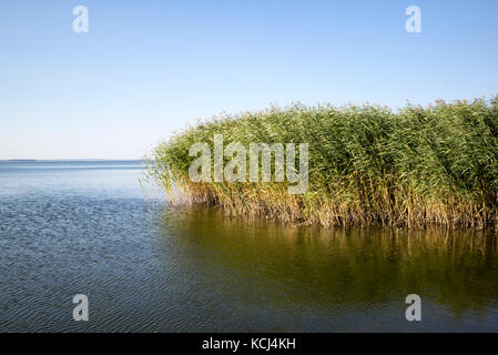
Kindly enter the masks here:
<path id="1" fill-rule="evenodd" d="M 140 178 L 136 161 L 0 162 L 1 332 L 498 331 L 491 232 L 234 220 L 146 203 Z"/>

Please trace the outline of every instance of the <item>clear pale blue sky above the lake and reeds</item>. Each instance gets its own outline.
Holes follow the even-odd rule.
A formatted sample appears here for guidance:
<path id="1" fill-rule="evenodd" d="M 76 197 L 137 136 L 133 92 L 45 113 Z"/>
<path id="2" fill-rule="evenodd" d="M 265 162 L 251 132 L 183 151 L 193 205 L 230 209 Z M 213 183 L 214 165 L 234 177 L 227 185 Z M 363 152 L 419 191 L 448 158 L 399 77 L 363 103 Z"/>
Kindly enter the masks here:
<path id="1" fill-rule="evenodd" d="M 490 98 L 497 62 L 496 0 L 1 1 L 0 160 L 140 159 L 200 119 L 296 101 Z"/>

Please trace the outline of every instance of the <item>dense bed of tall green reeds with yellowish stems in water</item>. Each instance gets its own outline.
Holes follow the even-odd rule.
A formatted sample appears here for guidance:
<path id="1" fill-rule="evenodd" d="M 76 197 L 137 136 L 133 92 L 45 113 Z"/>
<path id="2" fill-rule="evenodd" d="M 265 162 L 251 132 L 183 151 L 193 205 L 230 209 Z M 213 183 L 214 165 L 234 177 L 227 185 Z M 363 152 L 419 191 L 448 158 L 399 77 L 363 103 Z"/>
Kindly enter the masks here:
<path id="1" fill-rule="evenodd" d="M 197 142 L 308 143 L 304 194 L 286 183 L 189 179 Z M 329 226 L 482 230 L 498 222 L 498 97 L 377 105 L 272 106 L 216 116 L 154 149 L 149 176 L 172 203 L 212 204 L 232 215 Z"/>

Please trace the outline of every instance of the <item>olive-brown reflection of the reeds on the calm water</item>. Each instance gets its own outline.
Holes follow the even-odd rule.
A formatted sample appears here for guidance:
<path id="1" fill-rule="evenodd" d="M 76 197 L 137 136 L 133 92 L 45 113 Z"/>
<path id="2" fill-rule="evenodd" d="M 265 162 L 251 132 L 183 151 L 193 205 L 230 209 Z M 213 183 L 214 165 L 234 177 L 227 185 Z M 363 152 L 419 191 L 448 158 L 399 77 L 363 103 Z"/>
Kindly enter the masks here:
<path id="1" fill-rule="evenodd" d="M 430 329 L 439 322 L 498 331 L 491 232 L 331 231 L 244 222 L 205 207 L 170 209 L 163 229 L 175 232 L 176 257 L 212 281 L 213 296 L 233 293 L 246 304 L 264 302 L 268 311 L 315 313 L 317 331 L 332 329 L 319 327 L 324 314 L 332 323 L 359 317 L 359 329 L 375 329 L 374 322 L 380 328 Z M 423 325 L 408 326 L 404 318 L 411 293 L 425 305 Z"/>

